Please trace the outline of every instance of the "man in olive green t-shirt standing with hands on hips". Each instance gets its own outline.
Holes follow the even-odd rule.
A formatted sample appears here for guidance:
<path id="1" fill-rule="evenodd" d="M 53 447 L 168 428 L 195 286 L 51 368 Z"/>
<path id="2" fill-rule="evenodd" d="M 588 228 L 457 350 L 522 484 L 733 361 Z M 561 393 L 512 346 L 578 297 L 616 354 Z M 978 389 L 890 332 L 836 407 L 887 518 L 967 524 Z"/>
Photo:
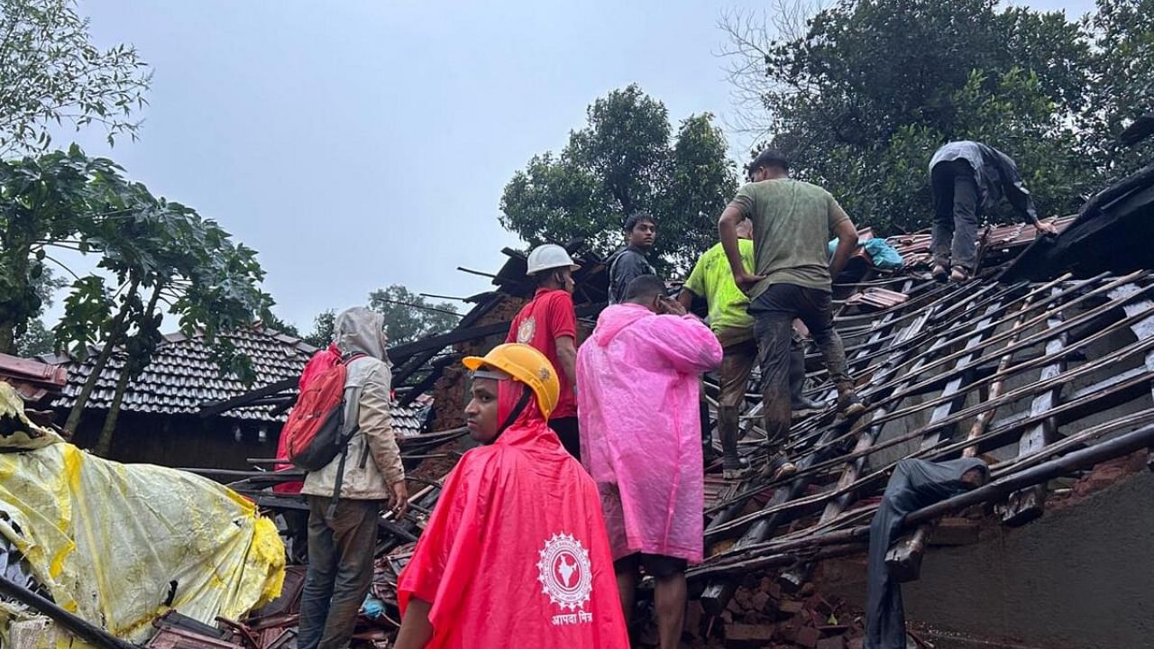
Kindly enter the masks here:
<path id="1" fill-rule="evenodd" d="M 857 230 L 825 189 L 789 179 L 789 163 L 780 151 L 762 151 L 749 165 L 752 182 L 725 208 L 718 231 L 734 282 L 749 292 L 749 314 L 760 349 L 765 381 L 764 413 L 769 472 L 777 478 L 795 471 L 780 454 L 789 435 L 789 346 L 792 323 L 801 319 L 822 350 L 838 390 L 838 411 L 849 418 L 865 406 L 854 391 L 841 337 L 833 328 L 832 277 L 845 268 L 857 245 Z M 754 268 L 744 268 L 736 226 L 754 222 Z M 830 231 L 838 237 L 827 259 Z"/>

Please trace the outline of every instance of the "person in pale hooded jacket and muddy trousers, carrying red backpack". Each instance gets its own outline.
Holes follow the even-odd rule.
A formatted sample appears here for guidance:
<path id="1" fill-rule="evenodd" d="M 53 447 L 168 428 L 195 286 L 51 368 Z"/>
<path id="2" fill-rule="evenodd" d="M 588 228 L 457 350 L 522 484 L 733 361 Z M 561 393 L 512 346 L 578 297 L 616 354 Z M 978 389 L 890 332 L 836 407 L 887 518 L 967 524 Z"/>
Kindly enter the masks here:
<path id="1" fill-rule="evenodd" d="M 384 319 L 365 307 L 337 315 L 334 343 L 347 363 L 345 426 L 349 442 L 340 498 L 331 508 L 340 457 L 305 478 L 308 500 L 308 574 L 300 605 L 299 649 L 349 644 L 357 613 L 373 582 L 381 505 L 404 514 L 409 493 L 390 416 Z M 351 360 L 350 360 L 351 359 Z M 330 510 L 331 509 L 331 510 Z"/>

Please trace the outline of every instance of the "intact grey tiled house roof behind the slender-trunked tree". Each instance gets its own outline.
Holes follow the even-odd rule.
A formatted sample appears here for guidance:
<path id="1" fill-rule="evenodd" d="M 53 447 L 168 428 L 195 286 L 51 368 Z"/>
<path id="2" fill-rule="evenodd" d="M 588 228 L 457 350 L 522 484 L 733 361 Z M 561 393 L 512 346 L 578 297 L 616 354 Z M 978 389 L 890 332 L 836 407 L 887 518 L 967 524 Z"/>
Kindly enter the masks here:
<path id="1" fill-rule="evenodd" d="M 305 364 L 317 350 L 313 345 L 275 331 L 250 328 L 224 334 L 223 337 L 237 345 L 238 352 L 248 356 L 256 373 L 252 386 L 265 386 L 300 376 Z M 157 348 L 152 361 L 136 380 L 128 386 L 121 404 L 123 412 L 155 415 L 200 415 L 203 405 L 226 401 L 248 393 L 252 386 L 233 374 L 222 376 L 211 358 L 212 346 L 203 336 L 170 334 Z M 54 359 L 68 370 L 68 382 L 63 394 L 53 401 L 55 408 L 72 408 L 76 403 L 92 371 L 96 351 L 83 361 L 70 357 Z M 123 357 L 114 355 L 102 372 L 96 389 L 85 408 L 106 410 L 112 403 L 117 379 L 123 366 Z M 294 394 L 291 390 L 287 394 Z M 286 415 L 276 403 L 245 405 L 220 415 L 232 419 L 255 422 L 284 422 Z M 417 409 L 398 408 L 394 404 L 392 424 L 398 434 L 417 434 L 421 420 Z"/>

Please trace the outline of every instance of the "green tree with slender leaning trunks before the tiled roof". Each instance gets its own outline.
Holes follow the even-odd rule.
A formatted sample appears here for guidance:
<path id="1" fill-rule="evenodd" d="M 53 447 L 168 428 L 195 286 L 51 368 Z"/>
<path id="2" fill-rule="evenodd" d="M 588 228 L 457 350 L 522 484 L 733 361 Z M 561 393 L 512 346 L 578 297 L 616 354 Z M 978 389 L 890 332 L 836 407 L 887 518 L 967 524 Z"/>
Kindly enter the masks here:
<path id="1" fill-rule="evenodd" d="M 179 319 L 186 335 L 212 343 L 222 374 L 253 380 L 250 361 L 238 355 L 223 333 L 267 318 L 271 299 L 260 290 L 264 271 L 252 248 L 232 240 L 216 222 L 192 208 L 158 199 L 140 184 L 121 186 L 118 203 L 127 217 L 102 222 L 85 241 L 102 252 L 102 275 L 74 283 L 65 314 L 55 327 L 58 345 L 83 357 L 98 343 L 99 353 L 77 396 L 65 428 L 75 432 L 92 389 L 114 356 L 119 376 L 96 446 L 111 449 L 117 418 L 128 383 L 148 367 L 162 342 L 164 308 Z M 106 276 L 112 277 L 108 286 Z"/>

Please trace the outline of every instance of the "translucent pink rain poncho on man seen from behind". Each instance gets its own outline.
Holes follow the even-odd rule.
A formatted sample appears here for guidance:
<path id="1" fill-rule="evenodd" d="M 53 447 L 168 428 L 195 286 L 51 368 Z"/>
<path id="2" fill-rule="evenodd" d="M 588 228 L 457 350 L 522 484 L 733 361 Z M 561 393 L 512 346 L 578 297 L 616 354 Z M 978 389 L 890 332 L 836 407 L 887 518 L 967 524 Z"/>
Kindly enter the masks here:
<path id="1" fill-rule="evenodd" d="M 692 315 L 607 307 L 577 352 L 582 463 L 597 483 L 613 559 L 703 554 L 699 376 L 721 345 Z"/>

